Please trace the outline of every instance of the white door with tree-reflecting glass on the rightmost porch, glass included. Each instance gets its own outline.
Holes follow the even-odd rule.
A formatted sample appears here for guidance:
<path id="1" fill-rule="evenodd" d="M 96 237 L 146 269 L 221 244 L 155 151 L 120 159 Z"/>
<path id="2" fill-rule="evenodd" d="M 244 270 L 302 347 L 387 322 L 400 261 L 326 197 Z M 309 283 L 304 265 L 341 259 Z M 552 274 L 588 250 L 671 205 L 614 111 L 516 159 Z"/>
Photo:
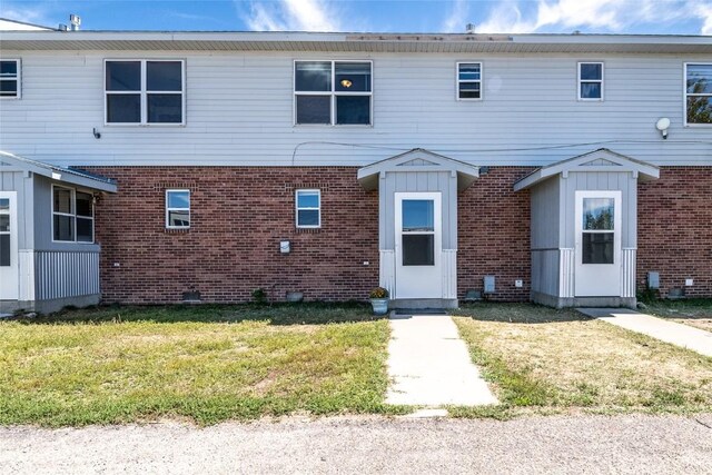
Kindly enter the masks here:
<path id="1" fill-rule="evenodd" d="M 576 297 L 621 295 L 621 191 L 576 191 Z"/>

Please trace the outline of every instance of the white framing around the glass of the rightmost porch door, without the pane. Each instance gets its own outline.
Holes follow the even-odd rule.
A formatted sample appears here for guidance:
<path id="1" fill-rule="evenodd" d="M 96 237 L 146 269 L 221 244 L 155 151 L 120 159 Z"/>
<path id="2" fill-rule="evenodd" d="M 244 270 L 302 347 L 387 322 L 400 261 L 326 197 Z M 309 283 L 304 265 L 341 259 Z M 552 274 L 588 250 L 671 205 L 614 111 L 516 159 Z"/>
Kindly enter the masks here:
<path id="1" fill-rule="evenodd" d="M 583 264 L 583 200 L 613 198 L 613 264 Z M 621 296 L 621 234 L 623 231 L 623 198 L 620 190 L 577 190 L 575 192 L 575 264 L 574 295 L 576 297 Z"/>

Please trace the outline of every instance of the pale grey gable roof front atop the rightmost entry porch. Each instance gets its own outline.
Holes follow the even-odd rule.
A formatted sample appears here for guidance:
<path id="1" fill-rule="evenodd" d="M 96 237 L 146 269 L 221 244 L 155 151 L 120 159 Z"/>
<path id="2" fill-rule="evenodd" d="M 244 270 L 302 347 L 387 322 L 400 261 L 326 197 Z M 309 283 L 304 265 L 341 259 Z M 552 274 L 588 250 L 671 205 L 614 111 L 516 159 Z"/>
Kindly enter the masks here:
<path id="1" fill-rule="evenodd" d="M 570 172 L 619 171 L 630 172 L 639 181 L 651 181 L 660 178 L 660 168 L 654 165 L 601 148 L 567 160 L 542 167 L 514 184 L 514 191 L 531 188 L 556 175 L 566 178 Z"/>

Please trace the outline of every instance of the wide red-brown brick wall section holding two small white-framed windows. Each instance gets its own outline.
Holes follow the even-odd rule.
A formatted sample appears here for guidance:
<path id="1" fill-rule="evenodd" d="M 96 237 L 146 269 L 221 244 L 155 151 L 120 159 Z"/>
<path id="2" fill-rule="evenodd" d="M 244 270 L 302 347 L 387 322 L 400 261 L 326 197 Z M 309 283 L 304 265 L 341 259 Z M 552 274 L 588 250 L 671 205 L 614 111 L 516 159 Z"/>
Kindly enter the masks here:
<path id="1" fill-rule="evenodd" d="M 277 299 L 365 299 L 378 285 L 378 192 L 356 169 L 255 167 L 91 168 L 118 180 L 97 206 L 106 301 L 245 301 L 263 287 Z M 165 229 L 165 190 L 191 190 L 191 227 Z M 322 189 L 319 230 L 295 228 L 295 188 Z M 291 241 L 281 255 L 279 241 Z M 369 261 L 364 266 L 364 261 Z M 118 263 L 120 267 L 115 267 Z"/>

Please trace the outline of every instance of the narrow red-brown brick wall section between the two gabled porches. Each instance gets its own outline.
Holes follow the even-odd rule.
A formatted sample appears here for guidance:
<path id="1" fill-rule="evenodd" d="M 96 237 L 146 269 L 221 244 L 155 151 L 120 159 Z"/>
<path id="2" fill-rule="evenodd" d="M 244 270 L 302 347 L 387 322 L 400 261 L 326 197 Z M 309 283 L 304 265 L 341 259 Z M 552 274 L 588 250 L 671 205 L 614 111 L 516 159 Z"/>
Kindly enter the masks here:
<path id="1" fill-rule="evenodd" d="M 483 290 L 495 276 L 492 300 L 525 301 L 531 291 L 530 194 L 512 187 L 531 167 L 492 167 L 457 201 L 457 288 Z M 514 286 L 522 279 L 524 286 Z"/>

